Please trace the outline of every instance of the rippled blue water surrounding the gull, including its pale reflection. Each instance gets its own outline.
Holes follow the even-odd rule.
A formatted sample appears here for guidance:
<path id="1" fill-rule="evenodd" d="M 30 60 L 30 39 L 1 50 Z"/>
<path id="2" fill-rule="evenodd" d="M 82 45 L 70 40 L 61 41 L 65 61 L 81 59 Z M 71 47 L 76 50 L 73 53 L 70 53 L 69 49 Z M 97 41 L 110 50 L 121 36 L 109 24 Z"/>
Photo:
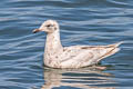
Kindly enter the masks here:
<path id="1" fill-rule="evenodd" d="M 93 68 L 43 66 L 48 19 L 60 23 L 63 46 L 125 41 Z M 133 0 L 0 0 L 0 89 L 132 89 Z"/>

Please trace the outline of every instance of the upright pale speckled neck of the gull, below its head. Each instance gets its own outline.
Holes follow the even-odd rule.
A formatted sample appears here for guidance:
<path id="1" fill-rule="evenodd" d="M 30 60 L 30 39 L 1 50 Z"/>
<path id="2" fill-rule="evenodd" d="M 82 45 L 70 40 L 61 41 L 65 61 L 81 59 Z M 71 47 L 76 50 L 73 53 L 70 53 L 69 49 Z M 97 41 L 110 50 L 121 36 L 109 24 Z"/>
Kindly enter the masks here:
<path id="1" fill-rule="evenodd" d="M 47 42 L 45 42 L 45 51 L 47 52 L 57 52 L 58 50 L 61 50 L 62 44 L 61 44 L 61 40 L 60 40 L 60 32 L 54 31 L 53 33 L 48 33 L 47 34 Z"/>

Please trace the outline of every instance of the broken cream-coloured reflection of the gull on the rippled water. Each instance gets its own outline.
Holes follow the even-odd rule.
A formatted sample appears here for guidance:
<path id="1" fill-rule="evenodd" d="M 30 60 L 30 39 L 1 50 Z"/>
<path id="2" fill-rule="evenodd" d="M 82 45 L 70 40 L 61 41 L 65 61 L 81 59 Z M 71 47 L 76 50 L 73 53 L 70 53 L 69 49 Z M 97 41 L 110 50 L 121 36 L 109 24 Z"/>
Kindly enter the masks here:
<path id="1" fill-rule="evenodd" d="M 81 89 L 115 89 L 105 85 L 115 83 L 112 75 L 94 68 L 81 69 L 44 69 L 44 85 L 41 89 L 81 88 Z M 101 86 L 102 85 L 102 86 Z M 104 87 L 103 87 L 104 86 Z M 61 88 L 62 87 L 62 88 Z"/>

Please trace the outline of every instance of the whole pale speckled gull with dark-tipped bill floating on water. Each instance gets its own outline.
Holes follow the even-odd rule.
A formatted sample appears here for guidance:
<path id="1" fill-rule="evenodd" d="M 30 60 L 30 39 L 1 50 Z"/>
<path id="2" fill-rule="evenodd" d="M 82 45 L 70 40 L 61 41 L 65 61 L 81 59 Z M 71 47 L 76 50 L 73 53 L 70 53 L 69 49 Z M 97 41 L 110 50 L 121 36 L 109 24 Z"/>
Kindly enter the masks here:
<path id="1" fill-rule="evenodd" d="M 82 68 L 96 65 L 103 58 L 120 50 L 122 42 L 108 46 L 70 46 L 63 47 L 60 40 L 60 27 L 55 20 L 44 21 L 33 33 L 47 33 L 44 65 L 51 68 Z"/>

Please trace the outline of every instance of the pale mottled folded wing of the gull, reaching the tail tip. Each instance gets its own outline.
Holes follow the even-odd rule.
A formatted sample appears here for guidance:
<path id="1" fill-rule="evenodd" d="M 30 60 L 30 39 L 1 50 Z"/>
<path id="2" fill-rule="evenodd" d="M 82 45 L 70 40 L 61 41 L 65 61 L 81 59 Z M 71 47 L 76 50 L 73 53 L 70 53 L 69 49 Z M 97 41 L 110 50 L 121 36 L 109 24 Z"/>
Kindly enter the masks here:
<path id="1" fill-rule="evenodd" d="M 98 63 L 103 58 L 114 55 L 122 42 L 109 46 L 73 46 L 64 48 L 61 65 L 64 68 L 80 68 Z M 65 59 L 64 59 L 65 58 Z"/>

